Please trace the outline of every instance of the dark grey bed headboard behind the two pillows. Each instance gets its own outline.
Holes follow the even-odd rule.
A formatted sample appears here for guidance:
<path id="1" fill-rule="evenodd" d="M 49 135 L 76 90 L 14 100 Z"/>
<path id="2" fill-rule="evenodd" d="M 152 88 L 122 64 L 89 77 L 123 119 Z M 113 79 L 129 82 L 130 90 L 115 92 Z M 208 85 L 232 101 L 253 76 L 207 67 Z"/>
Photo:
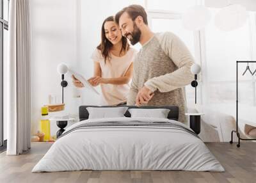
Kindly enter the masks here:
<path id="1" fill-rule="evenodd" d="M 79 107 L 79 121 L 87 120 L 89 117 L 89 113 L 86 109 L 86 107 L 116 107 L 116 106 L 80 106 Z M 170 112 L 168 113 L 168 119 L 178 121 L 179 118 L 179 107 L 177 106 L 125 106 L 131 108 L 140 108 L 140 109 L 170 109 Z M 131 114 L 127 110 L 124 114 L 126 117 L 131 117 Z"/>

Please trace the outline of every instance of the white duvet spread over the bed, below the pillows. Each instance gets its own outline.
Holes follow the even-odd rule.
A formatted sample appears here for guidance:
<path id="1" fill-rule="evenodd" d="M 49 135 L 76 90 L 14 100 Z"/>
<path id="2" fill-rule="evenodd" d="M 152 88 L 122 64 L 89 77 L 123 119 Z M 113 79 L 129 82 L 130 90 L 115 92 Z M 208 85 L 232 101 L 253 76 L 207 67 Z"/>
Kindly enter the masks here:
<path id="1" fill-rule="evenodd" d="M 92 122 L 172 122 L 163 118 L 107 118 Z M 185 125 L 184 125 L 185 126 Z M 168 127 L 92 127 L 58 139 L 32 172 L 72 170 L 225 171 L 203 141 Z"/>

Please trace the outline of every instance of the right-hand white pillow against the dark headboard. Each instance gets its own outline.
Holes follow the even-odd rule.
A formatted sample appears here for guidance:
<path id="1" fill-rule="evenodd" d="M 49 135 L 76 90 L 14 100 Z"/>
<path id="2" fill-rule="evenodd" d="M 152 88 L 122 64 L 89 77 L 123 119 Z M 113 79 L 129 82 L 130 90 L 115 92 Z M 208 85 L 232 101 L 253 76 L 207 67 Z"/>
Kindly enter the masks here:
<path id="1" fill-rule="evenodd" d="M 149 117 L 149 118 L 167 118 L 170 109 L 128 109 L 132 118 Z"/>

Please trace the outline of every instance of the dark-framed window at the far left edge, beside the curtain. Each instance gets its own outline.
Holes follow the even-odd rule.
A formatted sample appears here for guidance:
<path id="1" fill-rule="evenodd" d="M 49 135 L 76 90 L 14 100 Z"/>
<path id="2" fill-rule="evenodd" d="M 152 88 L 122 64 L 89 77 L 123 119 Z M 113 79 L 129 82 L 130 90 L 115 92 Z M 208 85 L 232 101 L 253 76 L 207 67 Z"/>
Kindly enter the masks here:
<path id="1" fill-rule="evenodd" d="M 0 0 L 0 151 L 6 148 L 6 124 L 3 120 L 3 67 L 7 58 L 9 0 Z"/>

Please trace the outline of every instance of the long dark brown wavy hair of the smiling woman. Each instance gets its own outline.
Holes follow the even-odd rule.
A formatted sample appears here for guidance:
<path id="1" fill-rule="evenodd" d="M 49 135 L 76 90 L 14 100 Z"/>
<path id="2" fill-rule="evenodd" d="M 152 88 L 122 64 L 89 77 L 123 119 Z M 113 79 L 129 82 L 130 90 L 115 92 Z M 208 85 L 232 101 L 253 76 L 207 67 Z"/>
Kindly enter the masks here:
<path id="1" fill-rule="evenodd" d="M 104 24 L 106 22 L 115 22 L 114 21 L 114 17 L 110 16 L 107 19 L 105 19 L 104 22 L 102 23 L 102 27 L 101 27 L 101 42 L 97 46 L 97 49 L 99 49 L 99 51 L 101 52 L 101 54 L 102 54 L 102 56 L 104 58 L 105 63 L 106 63 L 106 60 L 108 60 L 108 61 L 111 60 L 110 51 L 111 51 L 111 48 L 113 47 L 113 44 L 106 38 L 106 33 L 105 33 L 105 29 L 104 29 Z M 120 54 L 123 51 L 129 50 L 129 48 L 130 48 L 130 45 L 127 42 L 127 38 L 122 36 L 122 49 L 120 50 Z"/>

